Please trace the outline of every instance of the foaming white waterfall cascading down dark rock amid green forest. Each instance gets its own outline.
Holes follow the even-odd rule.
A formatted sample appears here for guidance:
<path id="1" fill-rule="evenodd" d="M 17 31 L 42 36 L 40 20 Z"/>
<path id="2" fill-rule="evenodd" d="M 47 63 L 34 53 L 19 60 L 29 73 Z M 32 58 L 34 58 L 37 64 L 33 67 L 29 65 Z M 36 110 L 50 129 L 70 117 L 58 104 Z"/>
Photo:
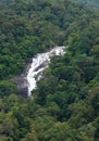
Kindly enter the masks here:
<path id="1" fill-rule="evenodd" d="M 39 53 L 37 56 L 33 57 L 32 65 L 27 72 L 27 81 L 28 81 L 28 95 L 32 94 L 32 91 L 36 89 L 36 82 L 42 76 L 42 72 L 48 67 L 50 62 L 50 56 L 63 55 L 65 47 L 55 47 L 51 51 L 46 53 Z"/>

